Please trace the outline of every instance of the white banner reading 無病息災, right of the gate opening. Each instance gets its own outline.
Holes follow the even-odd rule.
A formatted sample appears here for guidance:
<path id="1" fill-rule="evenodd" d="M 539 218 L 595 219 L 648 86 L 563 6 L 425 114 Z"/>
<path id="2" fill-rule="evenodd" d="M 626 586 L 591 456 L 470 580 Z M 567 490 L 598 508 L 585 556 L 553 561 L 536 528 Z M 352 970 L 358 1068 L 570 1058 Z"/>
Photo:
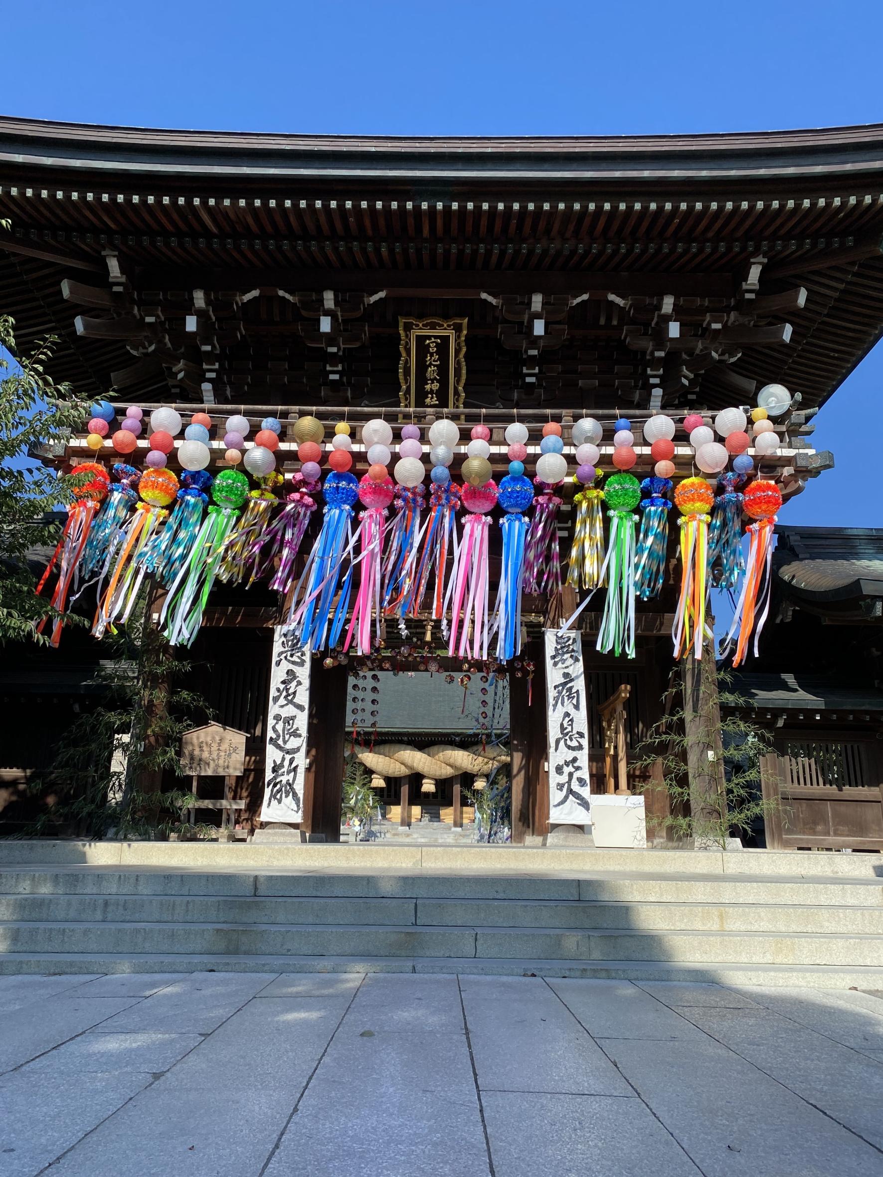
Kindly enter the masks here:
<path id="1" fill-rule="evenodd" d="M 545 630 L 549 824 L 591 822 L 583 641 L 577 630 Z"/>

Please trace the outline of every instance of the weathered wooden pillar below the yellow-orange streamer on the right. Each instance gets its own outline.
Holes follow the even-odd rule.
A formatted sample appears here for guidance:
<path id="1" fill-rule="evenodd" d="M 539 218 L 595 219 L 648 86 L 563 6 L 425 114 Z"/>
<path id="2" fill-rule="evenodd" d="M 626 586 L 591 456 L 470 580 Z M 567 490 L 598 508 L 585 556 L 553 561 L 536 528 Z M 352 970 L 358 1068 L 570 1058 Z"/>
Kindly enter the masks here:
<path id="1" fill-rule="evenodd" d="M 690 813 L 693 830 L 699 834 L 697 849 L 706 849 L 706 843 L 713 838 L 706 838 L 704 831 L 719 829 L 726 804 L 717 670 L 711 643 L 705 643 L 701 661 L 692 656 L 683 659 L 680 674 Z"/>

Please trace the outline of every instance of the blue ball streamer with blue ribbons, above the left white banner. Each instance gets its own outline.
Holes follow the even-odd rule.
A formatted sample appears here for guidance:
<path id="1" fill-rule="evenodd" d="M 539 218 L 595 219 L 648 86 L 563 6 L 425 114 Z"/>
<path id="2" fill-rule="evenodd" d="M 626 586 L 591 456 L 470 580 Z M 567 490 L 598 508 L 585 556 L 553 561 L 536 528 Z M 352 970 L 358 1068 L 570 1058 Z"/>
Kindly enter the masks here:
<path id="1" fill-rule="evenodd" d="M 298 626 L 300 644 L 312 651 L 321 650 L 327 638 L 340 564 L 347 544 L 352 546 L 352 508 L 359 497 L 359 480 L 346 471 L 332 471 L 321 493 L 325 499 L 321 531 L 316 537 L 288 610 L 288 619 Z M 348 593 L 344 617 L 347 605 Z M 343 619 L 340 625 L 343 627 Z"/>

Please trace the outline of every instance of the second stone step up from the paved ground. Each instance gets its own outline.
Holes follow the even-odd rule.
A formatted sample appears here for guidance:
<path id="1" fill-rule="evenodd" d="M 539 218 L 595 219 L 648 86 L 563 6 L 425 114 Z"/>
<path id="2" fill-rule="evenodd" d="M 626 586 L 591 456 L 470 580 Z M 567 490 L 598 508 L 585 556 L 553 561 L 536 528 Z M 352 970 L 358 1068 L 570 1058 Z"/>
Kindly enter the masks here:
<path id="1" fill-rule="evenodd" d="M 817 932 L 434 927 L 345 924 L 0 924 L 0 952 L 411 956 L 566 960 L 716 960 L 883 966 L 883 937 Z"/>

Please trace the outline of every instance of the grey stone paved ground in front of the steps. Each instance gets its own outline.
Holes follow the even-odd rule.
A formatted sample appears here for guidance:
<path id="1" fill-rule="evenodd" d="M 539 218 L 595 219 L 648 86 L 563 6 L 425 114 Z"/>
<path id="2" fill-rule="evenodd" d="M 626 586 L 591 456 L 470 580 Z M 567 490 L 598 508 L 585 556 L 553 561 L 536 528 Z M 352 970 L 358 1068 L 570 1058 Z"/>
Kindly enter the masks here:
<path id="1" fill-rule="evenodd" d="M 537 977 L 0 978 L 0 1177 L 881 1177 L 883 1000 Z"/>

